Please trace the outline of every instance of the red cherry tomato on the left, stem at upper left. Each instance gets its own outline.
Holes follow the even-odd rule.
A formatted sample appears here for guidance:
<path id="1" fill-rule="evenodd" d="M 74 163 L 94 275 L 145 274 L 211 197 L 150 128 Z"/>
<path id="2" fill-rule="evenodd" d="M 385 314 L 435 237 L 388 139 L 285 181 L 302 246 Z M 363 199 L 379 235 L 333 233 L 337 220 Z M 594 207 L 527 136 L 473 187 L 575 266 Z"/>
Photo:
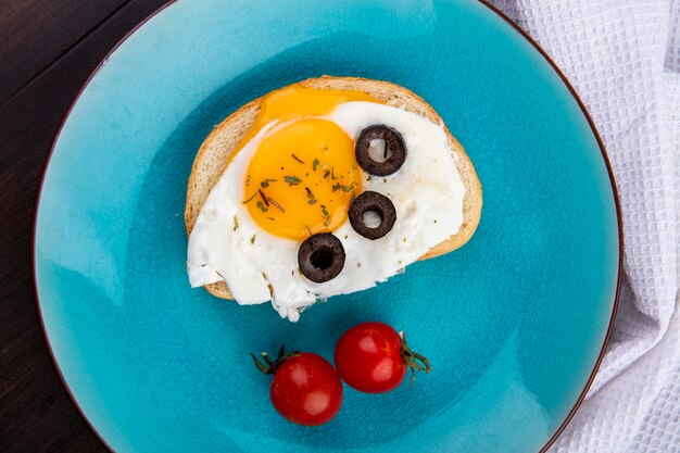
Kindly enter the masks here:
<path id="1" fill-rule="evenodd" d="M 253 356 L 254 358 L 254 356 Z M 276 362 L 263 354 L 269 365 L 264 373 L 274 373 L 269 397 L 284 418 L 303 426 L 330 421 L 342 404 L 342 382 L 332 365 L 310 352 L 279 353 Z M 255 361 L 257 364 L 257 361 Z"/>

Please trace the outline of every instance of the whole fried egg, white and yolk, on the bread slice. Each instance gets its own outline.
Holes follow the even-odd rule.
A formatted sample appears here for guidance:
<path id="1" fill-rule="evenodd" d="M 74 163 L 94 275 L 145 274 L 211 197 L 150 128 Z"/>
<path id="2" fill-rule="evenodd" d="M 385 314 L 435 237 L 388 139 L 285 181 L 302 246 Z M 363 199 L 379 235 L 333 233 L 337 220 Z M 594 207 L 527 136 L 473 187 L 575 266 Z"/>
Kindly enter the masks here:
<path id="1" fill-rule="evenodd" d="M 407 150 L 389 176 L 356 162 L 355 140 L 373 125 L 399 131 Z M 382 143 L 370 148 L 379 153 Z M 461 228 L 465 186 L 455 160 L 443 125 L 367 93 L 295 85 L 273 91 L 189 236 L 190 284 L 224 280 L 239 304 L 272 301 L 291 322 L 319 300 L 372 288 Z M 392 229 L 376 240 L 348 221 L 350 203 L 367 190 L 396 210 Z M 298 264 L 300 244 L 317 232 L 331 232 L 345 251 L 339 275 L 319 284 Z"/>

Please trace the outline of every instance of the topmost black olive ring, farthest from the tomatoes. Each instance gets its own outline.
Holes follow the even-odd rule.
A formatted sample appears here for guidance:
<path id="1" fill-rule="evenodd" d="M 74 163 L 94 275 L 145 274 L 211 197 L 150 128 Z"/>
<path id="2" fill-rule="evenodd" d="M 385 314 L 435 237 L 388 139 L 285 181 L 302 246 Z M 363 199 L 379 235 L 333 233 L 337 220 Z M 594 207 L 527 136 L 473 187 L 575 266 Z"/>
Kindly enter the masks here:
<path id="1" fill-rule="evenodd" d="M 385 140 L 386 151 L 389 149 L 392 153 L 385 162 L 374 161 L 368 153 L 370 141 L 378 139 Z M 354 153 L 358 165 L 376 176 L 391 175 L 401 168 L 406 160 L 406 147 L 401 134 L 383 125 L 369 126 L 362 130 L 354 144 Z"/>

